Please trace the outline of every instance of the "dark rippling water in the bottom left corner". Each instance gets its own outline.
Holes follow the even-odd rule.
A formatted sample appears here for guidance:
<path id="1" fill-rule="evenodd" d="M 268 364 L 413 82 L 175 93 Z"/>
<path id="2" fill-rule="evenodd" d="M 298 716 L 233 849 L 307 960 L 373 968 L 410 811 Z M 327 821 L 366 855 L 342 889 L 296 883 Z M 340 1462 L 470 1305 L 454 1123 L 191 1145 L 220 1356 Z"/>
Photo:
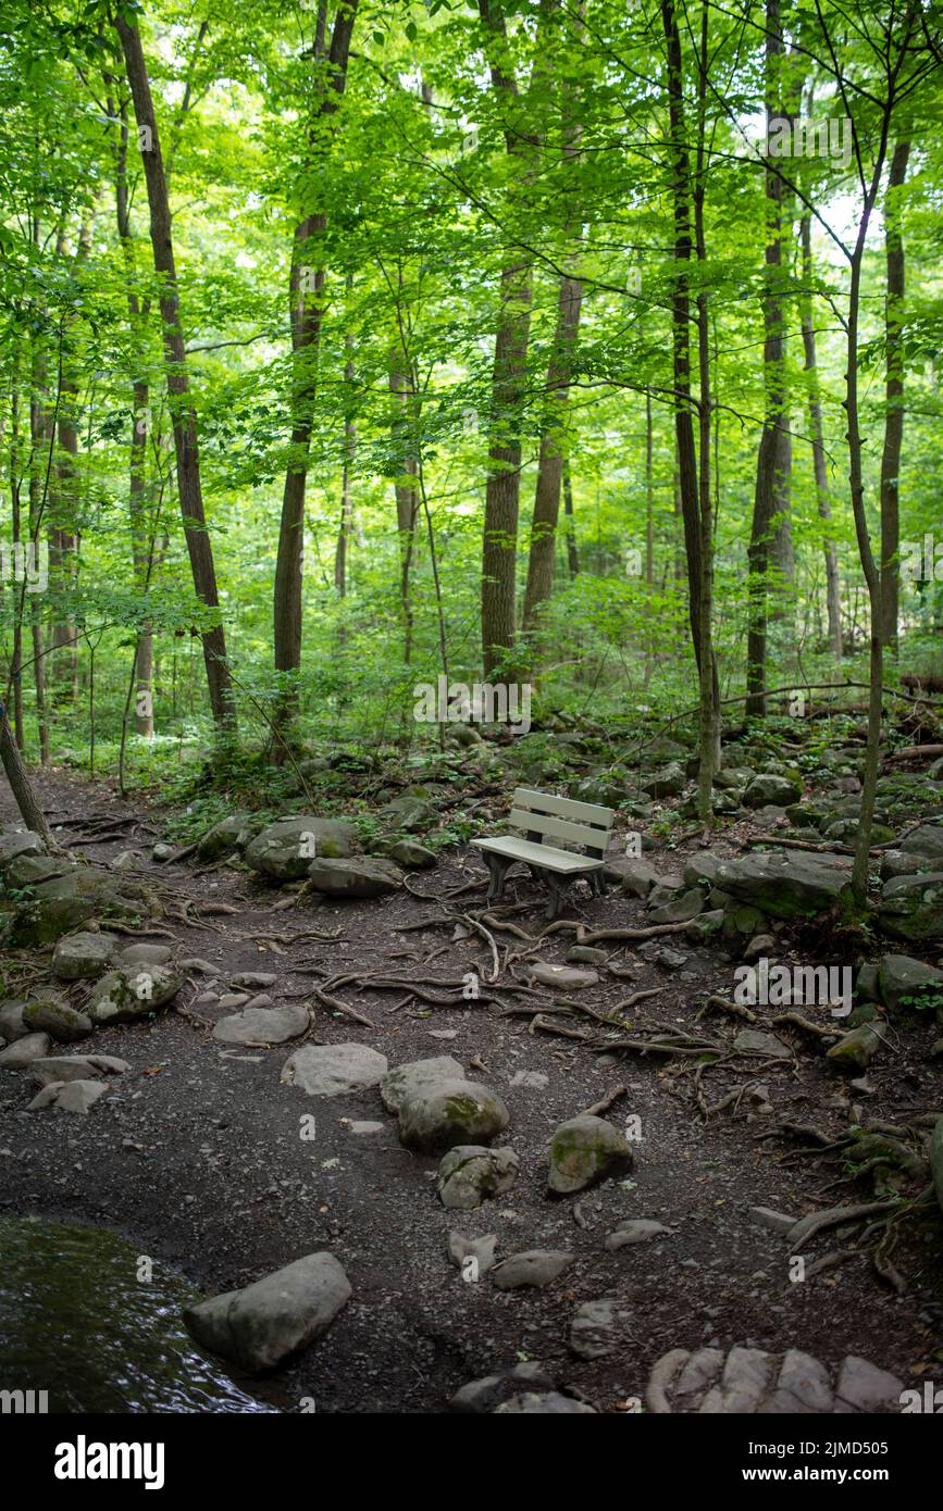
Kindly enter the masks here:
<path id="1" fill-rule="evenodd" d="M 0 1389 L 45 1390 L 50 1413 L 278 1411 L 192 1342 L 198 1292 L 157 1260 L 139 1281 L 139 1256 L 104 1228 L 2 1216 Z"/>

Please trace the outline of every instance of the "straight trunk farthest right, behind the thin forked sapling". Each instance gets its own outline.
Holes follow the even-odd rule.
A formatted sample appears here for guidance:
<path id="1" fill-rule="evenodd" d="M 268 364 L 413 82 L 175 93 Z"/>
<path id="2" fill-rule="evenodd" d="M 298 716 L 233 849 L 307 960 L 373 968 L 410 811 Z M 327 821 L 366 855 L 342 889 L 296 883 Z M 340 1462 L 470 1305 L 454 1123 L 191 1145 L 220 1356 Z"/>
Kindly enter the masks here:
<path id="1" fill-rule="evenodd" d="M 887 249 L 887 302 L 884 307 L 884 340 L 887 372 L 887 414 L 884 419 L 884 450 L 881 455 L 881 601 L 884 604 L 884 644 L 898 654 L 898 615 L 901 588 L 901 514 L 899 473 L 904 444 L 904 237 L 896 201 L 907 177 L 910 142 L 895 147 L 887 177 L 884 201 Z"/>

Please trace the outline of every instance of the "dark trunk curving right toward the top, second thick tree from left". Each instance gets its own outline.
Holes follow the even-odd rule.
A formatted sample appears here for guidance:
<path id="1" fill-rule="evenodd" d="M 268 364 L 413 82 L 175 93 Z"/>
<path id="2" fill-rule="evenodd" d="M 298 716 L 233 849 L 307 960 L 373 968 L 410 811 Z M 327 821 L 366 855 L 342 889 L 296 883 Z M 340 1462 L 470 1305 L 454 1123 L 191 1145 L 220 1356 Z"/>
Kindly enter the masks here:
<path id="1" fill-rule="evenodd" d="M 317 130 L 319 121 L 335 113 L 348 82 L 348 57 L 358 0 L 343 0 L 334 21 L 329 68 L 323 76 L 323 35 L 326 9 L 319 12 L 319 41 L 314 45 L 319 89 L 308 131 L 311 157 L 325 151 Z M 320 263 L 320 242 L 326 230 L 326 215 L 305 215 L 295 228 L 289 302 L 292 311 L 292 458 L 286 470 L 275 564 L 274 647 L 275 671 L 286 674 L 287 684 L 280 700 L 275 725 L 280 734 L 298 712 L 298 683 L 302 641 L 302 555 L 304 514 L 308 479 L 308 452 L 317 390 L 317 354 L 320 348 L 322 301 L 325 270 Z M 295 678 L 295 680 L 293 680 Z M 284 748 L 284 746 L 281 746 Z"/>

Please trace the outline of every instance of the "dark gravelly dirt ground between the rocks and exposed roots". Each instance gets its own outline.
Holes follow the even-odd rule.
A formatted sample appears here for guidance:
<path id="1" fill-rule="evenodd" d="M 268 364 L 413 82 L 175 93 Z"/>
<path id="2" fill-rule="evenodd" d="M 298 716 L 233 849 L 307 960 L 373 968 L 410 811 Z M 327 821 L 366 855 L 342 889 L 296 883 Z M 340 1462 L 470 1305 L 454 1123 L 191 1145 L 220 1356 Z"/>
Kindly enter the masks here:
<path id="1" fill-rule="evenodd" d="M 39 799 L 56 823 L 101 817 L 121 825 L 119 837 L 86 845 L 82 854 L 106 863 L 128 845 L 150 843 L 160 831 L 159 808 L 122 801 L 109 783 L 86 783 L 63 772 L 36 777 Z M 0 793 L 0 820 L 17 814 Z M 148 828 L 151 825 L 151 828 Z M 76 825 L 68 836 L 82 833 Z M 733 854 L 739 830 L 713 848 Z M 71 839 L 68 840 L 71 843 Z M 697 840 L 671 852 L 671 869 Z M 647 852 L 659 864 L 657 851 Z M 209 914 L 195 926 L 169 923 L 184 955 L 201 956 L 225 975 L 274 972 L 275 1002 L 310 997 L 305 964 L 329 973 L 369 972 L 378 966 L 413 981 L 456 979 L 475 970 L 487 982 L 490 944 L 470 934 L 452 941 L 440 926 L 443 905 L 410 891 L 369 902 L 284 908 L 284 893 L 246 870 L 178 863 L 147 867 L 181 902 L 224 904 L 236 911 Z M 485 872 L 475 851 L 450 851 L 434 872 L 413 873 L 417 891 L 438 898 Z M 274 905 L 283 902 L 281 908 Z M 508 901 L 524 904 L 518 926 L 538 934 L 544 895 L 530 881 L 511 882 Z M 461 908 L 472 907 L 462 899 Z M 450 911 L 455 911 L 455 905 Z M 645 928 L 644 902 L 611 893 L 591 899 L 577 888 L 565 917 L 589 929 Z M 423 919 L 429 923 L 422 925 Z M 305 929 L 335 932 L 332 941 L 301 940 Z M 148 935 L 150 937 L 150 935 Z M 163 941 L 157 932 L 156 941 Z M 169 943 L 169 941 L 168 941 Z M 502 947 L 508 943 L 502 937 Z M 536 958 L 562 963 L 574 934 L 546 937 Z M 518 941 L 514 941 L 518 944 Z M 662 947 L 672 952 L 668 964 Z M 656 988 L 639 1003 L 644 1020 L 697 1032 L 695 1012 L 706 993 L 731 996 L 733 963 L 685 935 L 650 946 L 608 944 L 592 1005 L 606 1012 L 627 994 Z M 683 955 L 679 964 L 677 955 Z M 35 988 L 45 979 L 48 955 L 38 955 Z M 796 1283 L 781 1234 L 768 1231 L 751 1207 L 772 1207 L 795 1218 L 839 1201 L 867 1201 L 867 1188 L 836 1189 L 840 1165 L 825 1156 L 796 1157 L 796 1142 L 763 1138 L 775 1121 L 748 1095 L 704 1120 L 694 1098 L 691 1067 L 666 1067 L 663 1056 L 618 1058 L 586 1044 L 530 1032 L 527 1015 L 499 1015 L 485 1003 L 399 1008 L 400 994 L 364 990 L 343 996 L 373 1027 L 317 1008 L 311 1043 L 358 1041 L 378 1049 L 390 1065 L 431 1055 L 453 1055 L 472 1074 L 497 1089 L 511 1109 L 499 1142 L 514 1147 L 520 1176 L 503 1197 L 476 1212 L 449 1212 L 435 1194 L 438 1160 L 400 1147 L 396 1121 L 382 1111 L 376 1088 L 352 1095 L 311 1098 L 280 1083 L 280 1070 L 298 1041 L 281 1047 L 230 1049 L 212 1038 L 224 1015 L 192 1006 L 212 985 L 193 978 L 177 1011 L 150 1021 L 98 1031 L 94 1052 L 116 1055 L 131 1071 L 91 1117 L 27 1112 L 36 1086 L 6 1076 L 0 1095 L 3 1204 L 20 1213 L 103 1224 L 131 1238 L 142 1253 L 178 1266 L 199 1289 L 242 1286 L 301 1254 L 329 1248 L 348 1272 L 354 1295 L 328 1334 L 280 1375 L 286 1410 L 313 1398 L 317 1411 L 438 1411 L 470 1380 L 540 1360 L 597 1410 L 620 1408 L 641 1396 L 651 1364 L 671 1348 L 756 1343 L 769 1351 L 801 1348 L 827 1363 L 863 1355 L 905 1383 L 938 1360 L 943 1265 L 932 1222 L 902 1228 L 895 1266 L 905 1280 L 896 1293 L 873 1271 L 867 1251 Z M 484 987 L 487 993 L 487 987 Z M 181 1011 L 183 1009 L 183 1011 Z M 760 1021 L 777 1008 L 757 1006 Z M 574 1018 L 585 1027 L 586 1020 Z M 742 1023 L 712 1027 L 728 1035 Z M 867 1091 L 815 1043 L 795 1035 L 795 1052 L 754 1077 L 777 1117 L 815 1124 L 840 1136 L 857 1121 L 855 1100 L 869 1120 L 899 1123 L 938 1109 L 940 1061 L 928 1061 L 931 1023 L 908 1029 L 895 1049 L 867 1071 Z M 80 1050 L 82 1046 L 77 1046 Z M 511 1085 L 518 1071 L 538 1073 L 546 1085 Z M 701 1083 L 704 1100 L 719 1102 L 748 1082 L 742 1064 L 719 1065 Z M 546 1147 L 553 1129 L 617 1086 L 626 1086 L 608 1117 L 620 1127 L 641 1120 L 636 1168 L 630 1182 L 606 1182 L 579 1198 L 546 1195 Z M 314 1141 L 299 1136 L 301 1118 L 316 1117 Z M 382 1130 L 351 1132 L 357 1120 Z M 603 1239 L 627 1218 L 656 1219 L 671 1231 L 656 1242 L 611 1253 Z M 938 1218 L 934 1219 L 938 1225 Z M 503 1292 L 484 1274 L 465 1283 L 447 1257 L 447 1234 L 497 1234 L 499 1257 L 532 1248 L 568 1250 L 571 1269 L 544 1290 Z M 839 1245 L 840 1247 L 840 1245 Z M 807 1265 L 836 1248 L 834 1231 L 804 1245 Z M 629 1313 L 624 1348 L 586 1361 L 570 1349 L 577 1307 L 617 1296 Z M 623 1407 L 624 1408 L 624 1407 Z"/>

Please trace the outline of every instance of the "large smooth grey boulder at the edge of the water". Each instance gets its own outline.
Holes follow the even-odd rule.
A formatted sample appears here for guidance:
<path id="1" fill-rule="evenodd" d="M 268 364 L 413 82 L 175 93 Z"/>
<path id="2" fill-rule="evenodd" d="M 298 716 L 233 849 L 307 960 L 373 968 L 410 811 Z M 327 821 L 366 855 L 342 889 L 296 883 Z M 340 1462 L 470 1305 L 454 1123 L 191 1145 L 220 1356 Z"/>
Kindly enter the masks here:
<path id="1" fill-rule="evenodd" d="M 351 1293 L 334 1254 L 322 1251 L 243 1290 L 186 1307 L 183 1321 L 212 1354 L 255 1373 L 274 1369 L 326 1333 Z"/>

